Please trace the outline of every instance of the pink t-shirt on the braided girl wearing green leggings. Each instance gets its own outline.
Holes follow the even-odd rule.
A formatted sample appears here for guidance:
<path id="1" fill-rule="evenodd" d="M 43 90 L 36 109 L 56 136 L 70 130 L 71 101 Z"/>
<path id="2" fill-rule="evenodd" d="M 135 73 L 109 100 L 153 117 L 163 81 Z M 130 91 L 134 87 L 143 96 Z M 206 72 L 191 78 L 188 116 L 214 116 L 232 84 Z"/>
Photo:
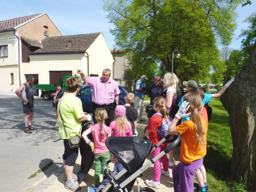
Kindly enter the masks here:
<path id="1" fill-rule="evenodd" d="M 91 129 L 91 134 L 93 135 L 93 140 L 94 140 L 94 146 L 95 146 L 95 151 L 93 151 L 94 154 L 99 154 L 99 153 L 106 153 L 108 152 L 108 148 L 106 147 L 105 141 L 108 138 L 109 133 L 111 133 L 111 129 L 103 125 L 102 132 L 104 133 L 104 137 L 102 138 L 101 136 L 101 125 L 96 123 L 94 125 L 90 126 Z"/>

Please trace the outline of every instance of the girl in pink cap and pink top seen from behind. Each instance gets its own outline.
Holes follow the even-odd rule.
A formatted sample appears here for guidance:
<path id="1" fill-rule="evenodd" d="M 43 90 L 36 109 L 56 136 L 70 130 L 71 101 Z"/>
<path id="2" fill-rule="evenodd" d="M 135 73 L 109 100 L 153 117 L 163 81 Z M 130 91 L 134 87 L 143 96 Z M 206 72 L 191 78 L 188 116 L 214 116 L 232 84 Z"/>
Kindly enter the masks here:
<path id="1" fill-rule="evenodd" d="M 109 127 L 112 129 L 112 135 L 115 137 L 131 137 L 132 125 L 125 117 L 126 108 L 123 105 L 117 105 L 115 109 L 116 119 L 112 121 Z"/>

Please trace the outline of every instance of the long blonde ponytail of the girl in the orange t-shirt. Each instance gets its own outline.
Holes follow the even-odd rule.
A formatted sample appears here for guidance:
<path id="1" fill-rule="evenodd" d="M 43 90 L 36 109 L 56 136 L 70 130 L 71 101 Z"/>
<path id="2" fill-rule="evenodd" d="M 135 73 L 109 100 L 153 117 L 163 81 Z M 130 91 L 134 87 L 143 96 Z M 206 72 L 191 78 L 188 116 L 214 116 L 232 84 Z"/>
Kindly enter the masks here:
<path id="1" fill-rule="evenodd" d="M 203 146 L 206 145 L 204 140 L 205 129 L 201 123 L 203 117 L 199 114 L 199 110 L 203 107 L 202 97 L 199 93 L 189 92 L 185 94 L 184 101 L 189 102 L 190 108 L 187 110 L 187 113 L 191 113 L 191 120 L 194 122 L 196 129 L 196 141 L 198 141 L 199 146 L 203 149 Z"/>

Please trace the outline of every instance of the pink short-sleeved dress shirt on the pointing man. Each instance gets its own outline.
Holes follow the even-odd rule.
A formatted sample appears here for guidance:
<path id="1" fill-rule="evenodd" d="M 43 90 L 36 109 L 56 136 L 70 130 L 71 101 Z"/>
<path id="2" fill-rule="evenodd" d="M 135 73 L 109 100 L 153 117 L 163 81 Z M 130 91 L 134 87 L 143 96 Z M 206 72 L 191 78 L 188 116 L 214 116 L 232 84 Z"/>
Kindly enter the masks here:
<path id="1" fill-rule="evenodd" d="M 93 87 L 92 102 L 97 105 L 109 105 L 114 102 L 114 98 L 120 94 L 117 83 L 113 79 L 103 82 L 102 78 L 87 77 L 86 86 Z"/>

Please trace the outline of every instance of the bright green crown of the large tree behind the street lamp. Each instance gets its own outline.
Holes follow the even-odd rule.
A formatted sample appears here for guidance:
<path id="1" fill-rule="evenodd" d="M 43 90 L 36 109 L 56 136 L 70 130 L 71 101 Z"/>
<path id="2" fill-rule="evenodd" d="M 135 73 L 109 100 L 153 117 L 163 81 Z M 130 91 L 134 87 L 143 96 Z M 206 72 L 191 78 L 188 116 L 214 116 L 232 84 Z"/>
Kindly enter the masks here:
<path id="1" fill-rule="evenodd" d="M 110 32 L 117 47 L 132 52 L 130 73 L 146 74 L 154 62 L 172 71 L 172 54 L 177 49 L 181 58 L 174 57 L 173 71 L 181 81 L 204 81 L 212 67 L 219 82 L 223 63 L 216 42 L 230 43 L 239 2 L 106 0 L 104 9 L 115 26 Z"/>

